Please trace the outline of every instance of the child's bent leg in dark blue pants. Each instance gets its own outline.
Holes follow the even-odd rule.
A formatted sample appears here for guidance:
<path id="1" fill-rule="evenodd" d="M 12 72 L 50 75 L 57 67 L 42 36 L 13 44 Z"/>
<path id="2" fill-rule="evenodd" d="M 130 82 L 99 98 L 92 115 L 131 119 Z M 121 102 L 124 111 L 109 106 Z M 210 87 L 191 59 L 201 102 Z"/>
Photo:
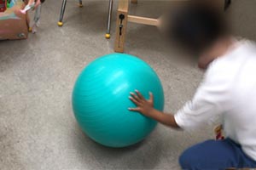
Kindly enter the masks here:
<path id="1" fill-rule="evenodd" d="M 241 146 L 231 139 L 207 140 L 195 144 L 179 157 L 182 169 L 217 170 L 229 167 L 256 167 L 256 161 L 246 156 Z"/>

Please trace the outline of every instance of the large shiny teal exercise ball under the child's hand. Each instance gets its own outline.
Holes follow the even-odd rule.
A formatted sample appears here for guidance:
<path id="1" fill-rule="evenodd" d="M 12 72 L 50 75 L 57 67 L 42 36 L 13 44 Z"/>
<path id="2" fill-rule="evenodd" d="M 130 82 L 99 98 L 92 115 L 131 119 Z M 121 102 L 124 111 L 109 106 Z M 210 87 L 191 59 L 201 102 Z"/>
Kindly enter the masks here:
<path id="1" fill-rule="evenodd" d="M 162 111 L 164 93 L 154 70 L 129 54 L 108 54 L 89 65 L 73 88 L 73 112 L 84 133 L 97 143 L 125 147 L 143 140 L 157 122 L 137 112 L 128 98 L 139 90 L 148 99 L 154 94 L 154 108 Z"/>

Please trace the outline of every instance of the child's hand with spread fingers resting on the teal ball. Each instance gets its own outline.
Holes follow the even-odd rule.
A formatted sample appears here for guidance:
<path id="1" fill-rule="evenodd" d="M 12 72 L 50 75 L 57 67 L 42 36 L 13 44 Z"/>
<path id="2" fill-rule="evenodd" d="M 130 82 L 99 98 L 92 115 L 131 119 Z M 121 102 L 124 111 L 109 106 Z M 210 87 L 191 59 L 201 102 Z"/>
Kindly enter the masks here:
<path id="1" fill-rule="evenodd" d="M 129 111 L 138 111 L 140 113 L 142 113 L 145 116 L 150 116 L 150 113 L 152 111 L 154 111 L 154 96 L 153 94 L 150 92 L 149 93 L 149 99 L 145 99 L 143 97 L 143 95 L 135 90 L 136 94 L 134 93 L 130 93 L 131 96 L 129 97 L 129 99 L 131 99 L 131 101 L 137 105 L 136 108 L 129 108 Z"/>

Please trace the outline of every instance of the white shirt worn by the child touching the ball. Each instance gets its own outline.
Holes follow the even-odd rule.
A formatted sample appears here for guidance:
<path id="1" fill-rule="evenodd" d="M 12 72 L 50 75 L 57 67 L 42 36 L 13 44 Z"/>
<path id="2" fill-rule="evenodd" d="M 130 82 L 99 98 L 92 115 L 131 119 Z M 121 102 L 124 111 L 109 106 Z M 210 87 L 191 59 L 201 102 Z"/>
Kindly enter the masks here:
<path id="1" fill-rule="evenodd" d="M 224 134 L 241 144 L 256 161 L 256 45 L 236 48 L 212 61 L 194 99 L 175 114 L 183 129 L 197 127 L 214 116 L 223 118 Z"/>

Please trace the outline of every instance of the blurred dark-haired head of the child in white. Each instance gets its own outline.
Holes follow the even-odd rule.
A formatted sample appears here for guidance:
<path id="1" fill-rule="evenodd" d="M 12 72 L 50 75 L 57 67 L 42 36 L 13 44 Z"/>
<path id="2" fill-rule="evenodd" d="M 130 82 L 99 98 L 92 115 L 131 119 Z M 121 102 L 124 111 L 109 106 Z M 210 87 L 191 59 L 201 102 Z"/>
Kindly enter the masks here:
<path id="1" fill-rule="evenodd" d="M 228 33 L 223 11 L 207 5 L 187 5 L 171 16 L 169 35 L 173 42 L 200 54 Z"/>

